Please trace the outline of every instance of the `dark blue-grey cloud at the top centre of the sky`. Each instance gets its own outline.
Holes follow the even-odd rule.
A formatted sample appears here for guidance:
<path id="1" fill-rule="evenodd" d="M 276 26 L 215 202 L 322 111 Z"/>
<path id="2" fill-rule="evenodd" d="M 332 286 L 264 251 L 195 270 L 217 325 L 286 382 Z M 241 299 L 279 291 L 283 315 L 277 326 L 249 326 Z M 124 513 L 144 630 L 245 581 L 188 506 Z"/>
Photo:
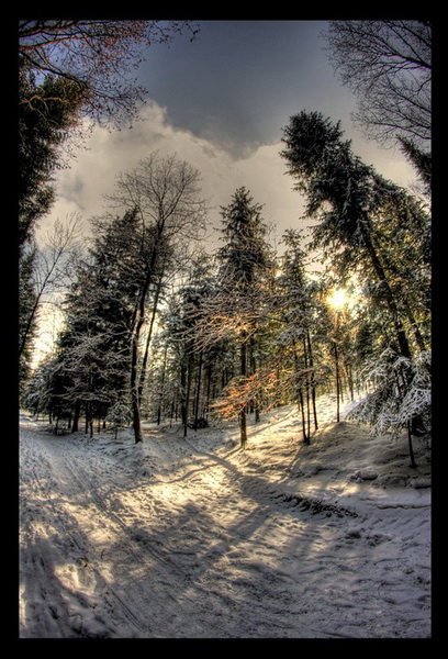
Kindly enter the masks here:
<path id="1" fill-rule="evenodd" d="M 337 112 L 336 93 L 344 107 L 351 101 L 323 51 L 325 27 L 323 21 L 202 22 L 197 41 L 149 48 L 141 75 L 175 127 L 247 156 L 278 142 L 291 114 Z"/>

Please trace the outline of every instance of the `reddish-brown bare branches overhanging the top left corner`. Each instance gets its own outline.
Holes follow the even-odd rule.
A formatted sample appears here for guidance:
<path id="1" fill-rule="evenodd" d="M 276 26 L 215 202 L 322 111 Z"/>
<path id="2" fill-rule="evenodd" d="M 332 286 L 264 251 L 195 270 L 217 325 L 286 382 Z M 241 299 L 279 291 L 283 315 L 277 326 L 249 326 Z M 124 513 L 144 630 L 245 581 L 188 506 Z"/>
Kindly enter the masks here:
<path id="1" fill-rule="evenodd" d="M 51 75 L 76 89 L 81 115 L 120 124 L 134 116 L 145 94 L 130 79 L 144 48 L 182 32 L 194 38 L 198 25 L 191 21 L 21 20 L 19 53 L 36 75 Z"/>

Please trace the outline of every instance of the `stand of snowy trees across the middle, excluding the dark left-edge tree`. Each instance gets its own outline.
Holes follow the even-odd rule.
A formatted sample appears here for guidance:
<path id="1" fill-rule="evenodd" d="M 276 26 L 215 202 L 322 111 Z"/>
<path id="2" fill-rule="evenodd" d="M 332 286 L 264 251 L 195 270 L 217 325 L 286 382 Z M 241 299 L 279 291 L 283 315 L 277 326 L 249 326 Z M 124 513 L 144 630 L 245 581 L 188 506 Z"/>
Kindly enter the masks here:
<path id="1" fill-rule="evenodd" d="M 167 414 L 171 423 L 180 418 L 184 435 L 212 414 L 234 417 L 245 448 L 248 413 L 259 420 L 262 410 L 294 402 L 307 444 L 318 428 L 316 392 L 334 382 L 338 415 L 343 389 L 354 395 L 368 357 L 392 350 L 412 365 L 428 351 L 423 204 L 363 166 L 339 127 L 317 113 L 292 118 L 284 141 L 282 156 L 307 194 L 309 215 L 320 221 L 313 247 L 323 248 L 333 280 L 306 272 L 299 232 L 287 232 L 283 256 L 275 255 L 262 206 L 245 188 L 222 208 L 224 246 L 194 258 L 192 242 L 206 217 L 199 174 L 156 152 L 119 178 L 108 212 L 94 219 L 90 259 L 67 297 L 66 330 L 43 367 L 54 414 L 69 415 L 76 428 L 83 406 L 92 433 L 93 417 L 104 421 L 127 405 L 135 443 L 143 407 L 158 423 Z M 389 239 L 392 228 L 401 241 Z M 349 275 L 362 289 L 360 309 L 335 316 L 326 297 Z M 156 412 L 145 387 L 157 378 Z M 402 400 L 413 382 L 402 378 Z M 428 422 L 427 407 L 418 410 L 406 417 L 410 433 L 416 417 Z"/>

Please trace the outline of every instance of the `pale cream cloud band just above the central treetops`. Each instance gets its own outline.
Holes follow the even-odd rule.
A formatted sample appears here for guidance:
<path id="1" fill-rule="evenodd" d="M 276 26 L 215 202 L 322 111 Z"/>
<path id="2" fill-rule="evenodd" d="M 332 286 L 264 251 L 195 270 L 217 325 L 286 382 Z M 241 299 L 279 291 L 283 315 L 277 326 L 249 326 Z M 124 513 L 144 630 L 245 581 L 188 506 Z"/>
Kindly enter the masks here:
<path id="1" fill-rule="evenodd" d="M 414 178 L 411 167 L 396 154 L 371 143 L 366 145 L 360 139 L 354 141 L 352 146 L 367 164 L 373 164 L 400 185 L 407 185 Z M 150 103 L 142 110 L 133 127 L 92 130 L 87 144 L 76 149 L 70 166 L 58 174 L 57 202 L 42 227 L 55 217 L 64 219 L 72 213 L 87 221 L 101 215 L 107 205 L 105 196 L 114 192 L 116 176 L 132 170 L 139 160 L 158 150 L 161 155 L 176 153 L 201 174 L 202 196 L 211 203 L 211 245 L 217 243 L 220 235 L 221 206 L 227 205 L 235 190 L 243 186 L 256 203 L 264 204 L 264 219 L 273 225 L 273 238 L 279 242 L 285 228 L 302 225 L 303 213 L 303 200 L 285 174 L 285 163 L 280 156 L 282 147 L 279 139 L 237 156 L 215 139 L 172 126 L 167 110 Z"/>

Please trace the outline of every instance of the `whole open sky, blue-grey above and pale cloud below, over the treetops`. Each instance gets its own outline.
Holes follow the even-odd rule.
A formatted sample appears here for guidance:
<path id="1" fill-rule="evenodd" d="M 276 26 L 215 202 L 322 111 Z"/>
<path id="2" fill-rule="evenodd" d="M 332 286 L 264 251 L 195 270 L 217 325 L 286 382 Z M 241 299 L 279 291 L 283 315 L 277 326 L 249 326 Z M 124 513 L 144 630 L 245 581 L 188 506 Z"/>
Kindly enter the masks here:
<path id="1" fill-rule="evenodd" d="M 197 38 L 154 44 L 139 68 L 147 103 L 132 127 L 94 129 L 57 176 L 55 217 L 101 214 L 115 177 L 153 150 L 176 153 L 195 167 L 211 202 L 211 245 L 220 208 L 239 187 L 264 205 L 264 220 L 281 242 L 299 227 L 303 200 L 280 156 L 283 129 L 302 110 L 340 121 L 352 148 L 399 185 L 414 180 L 400 152 L 380 148 L 354 129 L 354 94 L 341 86 L 325 53 L 325 21 L 202 21 Z"/>

